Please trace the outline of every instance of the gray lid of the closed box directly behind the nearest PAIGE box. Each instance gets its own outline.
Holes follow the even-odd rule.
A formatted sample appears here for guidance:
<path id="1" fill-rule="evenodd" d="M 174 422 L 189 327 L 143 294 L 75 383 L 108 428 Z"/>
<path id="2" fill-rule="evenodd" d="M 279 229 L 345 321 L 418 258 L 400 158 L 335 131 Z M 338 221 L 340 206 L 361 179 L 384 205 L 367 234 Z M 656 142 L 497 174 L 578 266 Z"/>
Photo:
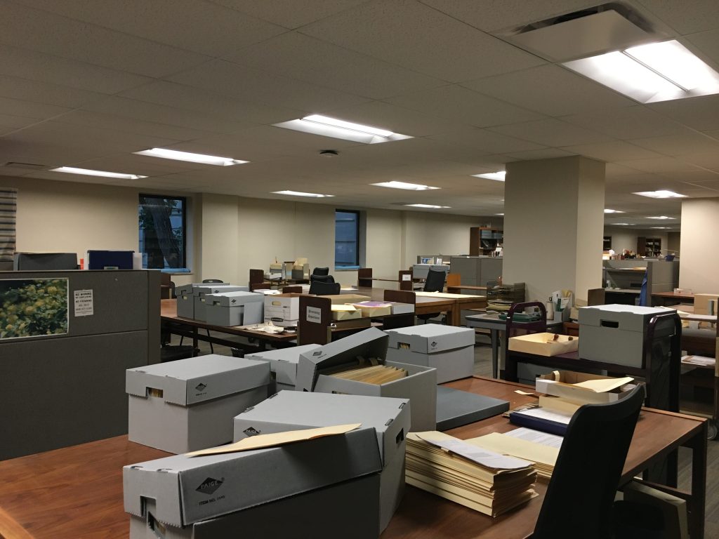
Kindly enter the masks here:
<path id="1" fill-rule="evenodd" d="M 241 423 L 245 428 L 253 428 L 258 434 L 362 423 L 362 427 L 375 428 L 383 461 L 388 461 L 410 430 L 410 401 L 365 395 L 280 391 L 235 416 L 234 422 L 236 426 Z M 238 439 L 237 428 L 234 438 Z"/>

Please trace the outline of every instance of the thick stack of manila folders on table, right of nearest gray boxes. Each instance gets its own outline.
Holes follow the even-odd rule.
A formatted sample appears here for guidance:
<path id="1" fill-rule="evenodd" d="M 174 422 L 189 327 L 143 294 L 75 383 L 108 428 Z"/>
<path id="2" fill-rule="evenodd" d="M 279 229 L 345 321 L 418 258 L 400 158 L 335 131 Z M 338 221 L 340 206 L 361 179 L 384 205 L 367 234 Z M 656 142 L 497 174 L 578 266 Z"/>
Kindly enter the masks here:
<path id="1" fill-rule="evenodd" d="M 408 484 L 491 517 L 536 497 L 532 465 L 437 431 L 407 436 Z"/>

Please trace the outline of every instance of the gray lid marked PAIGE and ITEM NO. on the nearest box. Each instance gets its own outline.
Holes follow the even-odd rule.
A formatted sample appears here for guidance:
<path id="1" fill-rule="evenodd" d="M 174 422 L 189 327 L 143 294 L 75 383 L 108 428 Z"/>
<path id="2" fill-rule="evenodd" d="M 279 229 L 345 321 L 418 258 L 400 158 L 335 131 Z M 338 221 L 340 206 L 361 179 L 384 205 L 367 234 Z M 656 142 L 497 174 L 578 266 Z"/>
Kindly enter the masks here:
<path id="1" fill-rule="evenodd" d="M 168 456 L 124 466 L 124 509 L 147 518 L 152 499 L 155 520 L 187 526 L 381 470 L 374 428 L 252 451 Z"/>

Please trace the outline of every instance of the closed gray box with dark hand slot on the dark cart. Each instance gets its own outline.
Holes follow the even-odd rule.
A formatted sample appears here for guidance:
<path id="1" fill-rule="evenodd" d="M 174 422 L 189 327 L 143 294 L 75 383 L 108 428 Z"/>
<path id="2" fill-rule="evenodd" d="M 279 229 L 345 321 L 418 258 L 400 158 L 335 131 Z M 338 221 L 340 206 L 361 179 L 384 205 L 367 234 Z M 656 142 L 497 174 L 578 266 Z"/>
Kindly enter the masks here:
<path id="1" fill-rule="evenodd" d="M 580 307 L 579 311 L 582 359 L 640 368 L 644 367 L 642 346 L 649 321 L 654 315 L 667 313 L 666 309 L 635 305 L 597 305 Z M 653 346 L 661 346 L 668 354 L 674 324 L 656 326 Z"/>

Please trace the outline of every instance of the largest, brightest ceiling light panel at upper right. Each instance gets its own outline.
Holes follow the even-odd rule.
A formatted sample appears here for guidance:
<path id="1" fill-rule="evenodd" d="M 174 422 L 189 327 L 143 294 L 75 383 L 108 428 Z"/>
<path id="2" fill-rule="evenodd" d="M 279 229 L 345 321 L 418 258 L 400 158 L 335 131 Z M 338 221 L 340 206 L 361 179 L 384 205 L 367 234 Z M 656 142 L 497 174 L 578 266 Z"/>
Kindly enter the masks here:
<path id="1" fill-rule="evenodd" d="M 719 73 L 677 40 L 629 47 L 564 65 L 640 103 L 719 93 Z"/>

